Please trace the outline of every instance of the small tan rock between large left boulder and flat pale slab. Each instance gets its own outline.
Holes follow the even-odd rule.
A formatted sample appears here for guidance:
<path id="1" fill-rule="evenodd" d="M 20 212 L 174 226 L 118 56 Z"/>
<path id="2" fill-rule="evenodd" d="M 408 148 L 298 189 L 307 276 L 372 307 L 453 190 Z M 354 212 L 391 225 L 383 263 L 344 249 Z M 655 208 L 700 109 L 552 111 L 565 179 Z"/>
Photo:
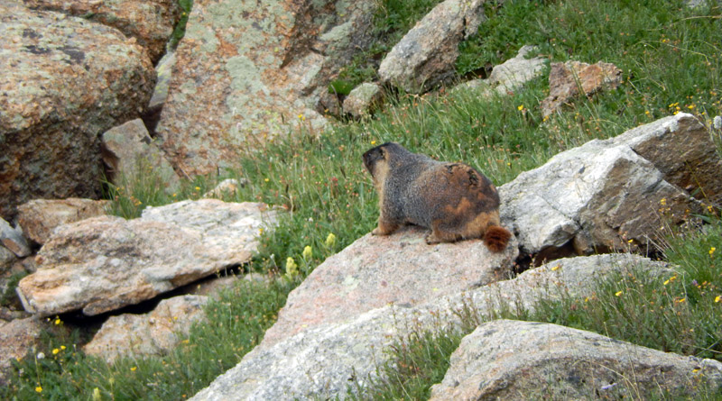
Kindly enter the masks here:
<path id="1" fill-rule="evenodd" d="M 17 221 L 25 236 L 39 244 L 51 238 L 53 230 L 62 224 L 106 214 L 106 200 L 80 199 L 33 199 L 18 206 Z"/>

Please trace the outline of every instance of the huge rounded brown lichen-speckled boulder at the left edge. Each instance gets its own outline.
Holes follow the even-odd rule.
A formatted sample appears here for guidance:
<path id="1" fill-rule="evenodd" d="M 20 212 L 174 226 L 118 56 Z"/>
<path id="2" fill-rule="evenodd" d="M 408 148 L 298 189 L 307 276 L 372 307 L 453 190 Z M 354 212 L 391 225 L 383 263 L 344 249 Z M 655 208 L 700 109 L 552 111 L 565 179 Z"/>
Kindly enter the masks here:
<path id="1" fill-rule="evenodd" d="M 33 198 L 97 197 L 97 135 L 139 115 L 153 64 L 115 28 L 0 0 L 0 215 Z"/>

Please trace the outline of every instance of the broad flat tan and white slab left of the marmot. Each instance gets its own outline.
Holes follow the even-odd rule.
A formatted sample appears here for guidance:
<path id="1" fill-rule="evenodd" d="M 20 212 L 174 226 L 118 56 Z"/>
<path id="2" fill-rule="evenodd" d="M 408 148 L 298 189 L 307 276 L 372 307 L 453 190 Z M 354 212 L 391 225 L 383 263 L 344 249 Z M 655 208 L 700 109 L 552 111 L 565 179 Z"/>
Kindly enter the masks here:
<path id="1" fill-rule="evenodd" d="M 264 204 L 202 199 L 149 207 L 134 220 L 66 224 L 42 247 L 39 269 L 17 292 L 25 310 L 41 316 L 136 304 L 247 262 L 259 229 L 272 228 L 275 215 Z"/>

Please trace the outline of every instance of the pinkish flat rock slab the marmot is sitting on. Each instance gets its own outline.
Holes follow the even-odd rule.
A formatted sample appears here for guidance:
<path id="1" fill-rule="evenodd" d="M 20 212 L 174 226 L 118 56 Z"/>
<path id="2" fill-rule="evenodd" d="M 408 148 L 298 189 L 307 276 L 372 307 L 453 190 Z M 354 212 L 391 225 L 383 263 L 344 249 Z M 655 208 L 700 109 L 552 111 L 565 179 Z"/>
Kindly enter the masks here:
<path id="1" fill-rule="evenodd" d="M 480 240 L 427 245 L 427 232 L 406 227 L 384 237 L 366 234 L 325 260 L 289 294 L 262 346 L 384 305 L 419 305 L 510 277 L 514 240 L 492 253 Z"/>

